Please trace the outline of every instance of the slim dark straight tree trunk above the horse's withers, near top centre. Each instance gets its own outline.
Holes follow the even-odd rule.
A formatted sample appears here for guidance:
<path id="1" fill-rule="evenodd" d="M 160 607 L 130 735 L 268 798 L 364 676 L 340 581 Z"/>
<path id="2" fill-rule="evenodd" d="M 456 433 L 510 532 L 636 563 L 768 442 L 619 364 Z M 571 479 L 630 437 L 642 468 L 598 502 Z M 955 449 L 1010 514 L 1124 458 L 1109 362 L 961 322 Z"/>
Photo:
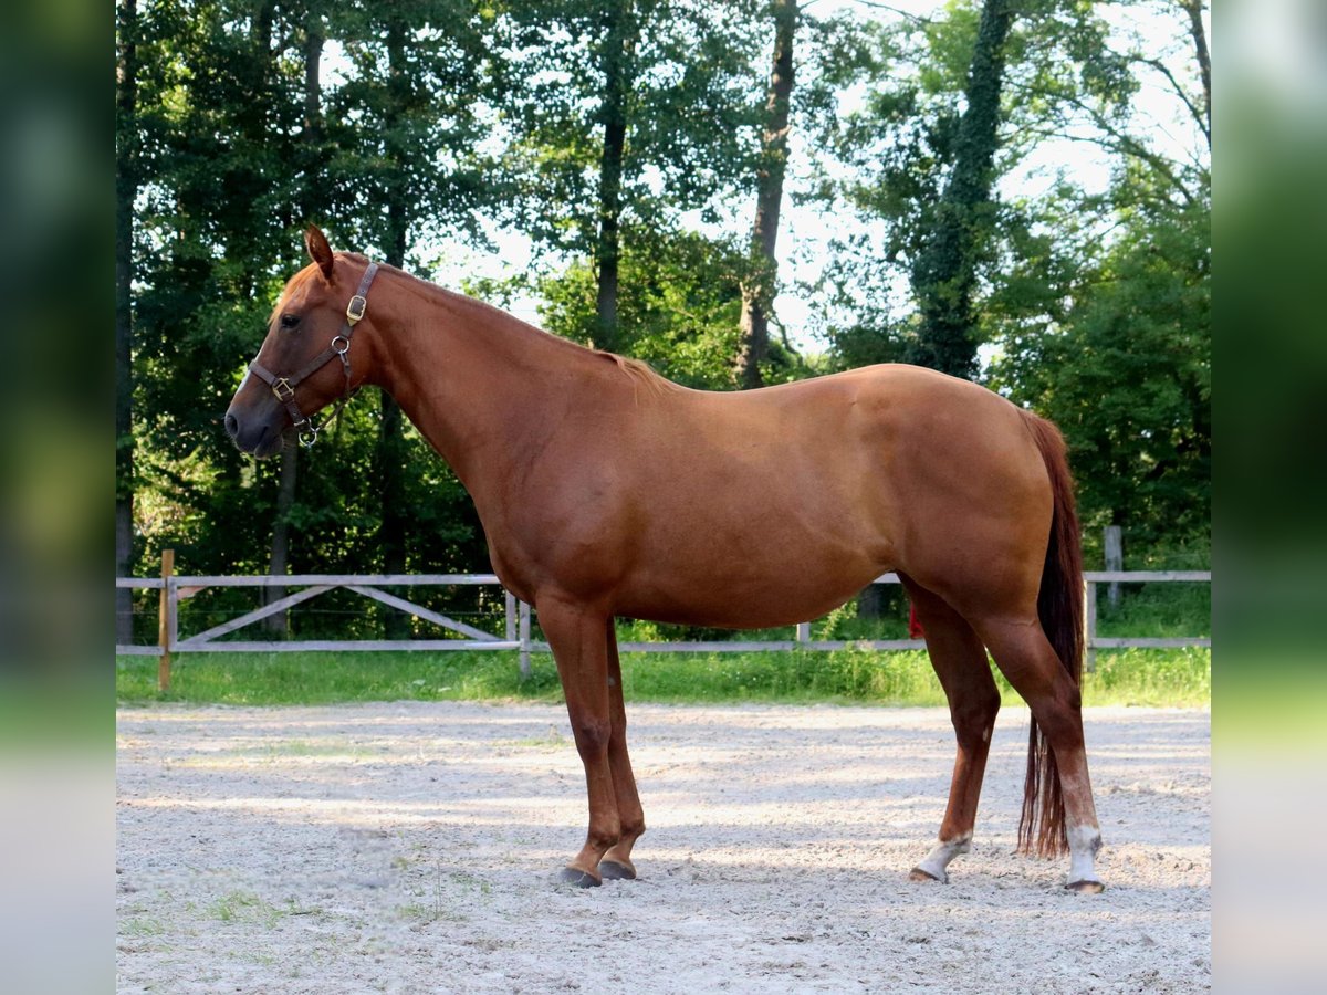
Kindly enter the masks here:
<path id="1" fill-rule="evenodd" d="M 604 9 L 604 150 L 598 163 L 598 243 L 594 261 L 598 285 L 594 301 L 594 346 L 616 349 L 620 222 L 622 214 L 622 154 L 626 149 L 626 94 L 630 89 L 632 53 L 630 0 L 608 4 Z"/>

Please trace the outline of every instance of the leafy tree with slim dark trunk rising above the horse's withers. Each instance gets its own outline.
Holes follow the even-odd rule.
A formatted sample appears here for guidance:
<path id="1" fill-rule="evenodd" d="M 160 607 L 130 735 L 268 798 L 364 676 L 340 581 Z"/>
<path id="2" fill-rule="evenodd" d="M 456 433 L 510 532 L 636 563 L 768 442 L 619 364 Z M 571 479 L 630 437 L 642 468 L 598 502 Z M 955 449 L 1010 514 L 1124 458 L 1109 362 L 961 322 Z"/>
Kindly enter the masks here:
<path id="1" fill-rule="evenodd" d="M 754 161 L 752 1 L 508 3 L 525 69 L 504 113 L 520 199 L 512 220 L 545 253 L 592 260 L 593 320 L 576 333 L 621 349 L 624 235 L 689 211 L 718 219 Z"/>

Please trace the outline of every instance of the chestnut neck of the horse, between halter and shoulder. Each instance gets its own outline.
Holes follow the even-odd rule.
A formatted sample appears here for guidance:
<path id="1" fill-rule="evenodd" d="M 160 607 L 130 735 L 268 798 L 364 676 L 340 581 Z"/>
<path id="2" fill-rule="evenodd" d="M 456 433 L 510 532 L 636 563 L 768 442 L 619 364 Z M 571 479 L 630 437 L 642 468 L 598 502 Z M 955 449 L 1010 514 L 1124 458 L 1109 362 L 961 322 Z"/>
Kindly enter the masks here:
<path id="1" fill-rule="evenodd" d="M 579 387 L 602 379 L 602 357 L 462 295 L 393 283 L 370 304 L 382 340 L 374 382 L 476 499 L 569 405 L 598 394 Z"/>

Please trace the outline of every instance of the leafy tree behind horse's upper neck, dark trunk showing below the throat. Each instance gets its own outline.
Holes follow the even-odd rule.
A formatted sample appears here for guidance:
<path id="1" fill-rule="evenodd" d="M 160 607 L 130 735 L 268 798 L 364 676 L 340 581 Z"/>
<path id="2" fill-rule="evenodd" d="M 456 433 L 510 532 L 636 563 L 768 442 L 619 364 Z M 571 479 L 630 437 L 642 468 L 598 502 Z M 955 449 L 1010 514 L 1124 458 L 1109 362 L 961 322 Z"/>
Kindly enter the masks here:
<path id="1" fill-rule="evenodd" d="M 360 247 L 377 247 L 389 265 L 426 275 L 418 257 L 425 233 L 474 237 L 478 212 L 503 195 L 494 163 L 479 151 L 488 122 L 486 106 L 500 85 L 487 15 L 466 0 L 417 0 L 342 19 L 356 74 L 333 98 L 338 121 L 373 121 L 344 127 L 338 161 L 353 190 L 353 230 Z M 418 434 L 406 431 L 401 407 L 387 394 L 378 406 L 370 463 L 377 528 L 366 556 L 385 573 L 411 563 L 418 516 L 409 499 L 413 480 L 431 459 Z M 446 486 L 459 491 L 454 479 Z M 478 533 L 463 512 L 467 533 Z M 415 560 L 418 563 L 418 560 Z M 405 618 L 389 613 L 389 635 L 405 635 Z"/>

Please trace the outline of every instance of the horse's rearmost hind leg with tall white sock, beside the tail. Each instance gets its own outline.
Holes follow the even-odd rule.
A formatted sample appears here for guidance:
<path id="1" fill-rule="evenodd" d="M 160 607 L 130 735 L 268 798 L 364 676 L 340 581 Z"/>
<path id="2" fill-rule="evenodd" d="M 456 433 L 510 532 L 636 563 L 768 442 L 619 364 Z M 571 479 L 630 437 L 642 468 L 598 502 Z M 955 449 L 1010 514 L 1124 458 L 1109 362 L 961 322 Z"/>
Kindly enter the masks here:
<path id="1" fill-rule="evenodd" d="M 1074 892 L 1100 892 L 1104 885 L 1093 870 L 1093 860 L 1101 848 L 1101 833 L 1087 772 L 1079 686 L 1060 663 L 1038 622 L 990 620 L 978 621 L 977 629 L 990 647 L 995 665 L 1032 710 L 1032 718 L 1050 743 L 1055 759 L 1052 776 L 1058 776 L 1063 808 L 1059 808 L 1054 795 L 1047 793 L 1050 785 L 1042 784 L 1039 804 L 1043 832 L 1038 849 L 1046 856 L 1059 850 L 1063 832 L 1070 849 L 1066 888 Z M 1030 803 L 1038 803 L 1036 788 L 1035 783 L 1027 788 Z M 1047 811 L 1048 807 L 1051 811 Z"/>

